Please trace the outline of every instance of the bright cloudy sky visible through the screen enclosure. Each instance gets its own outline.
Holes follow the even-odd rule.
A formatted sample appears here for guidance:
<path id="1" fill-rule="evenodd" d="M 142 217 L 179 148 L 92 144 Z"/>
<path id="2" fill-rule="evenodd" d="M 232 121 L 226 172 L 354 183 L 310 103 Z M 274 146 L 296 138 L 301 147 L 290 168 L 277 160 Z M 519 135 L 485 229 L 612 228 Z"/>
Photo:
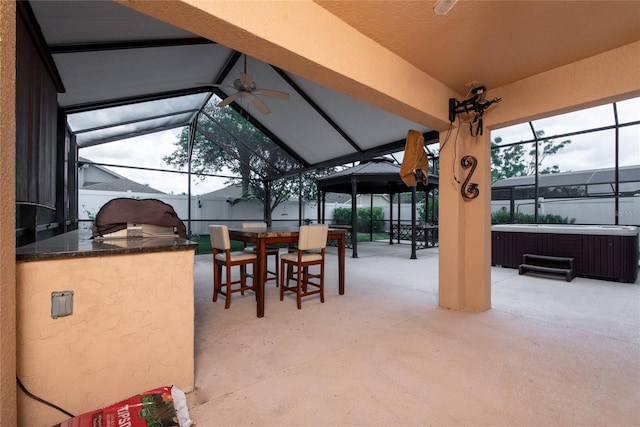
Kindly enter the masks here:
<path id="1" fill-rule="evenodd" d="M 623 101 L 617 104 L 620 123 L 640 120 L 640 98 Z M 615 123 L 612 104 L 549 117 L 533 121 L 536 130 L 542 129 L 545 135 L 559 135 L 585 129 L 595 129 L 610 126 Z M 462 129 L 465 129 L 463 125 Z M 462 130 L 461 129 L 461 130 Z M 129 138 L 108 144 L 82 148 L 80 157 L 96 163 L 139 166 L 155 169 L 172 169 L 162 157 L 175 150 L 181 129 L 163 131 Z M 519 142 L 533 138 L 529 123 L 492 131 L 491 139 L 497 136 L 503 143 Z M 558 165 L 562 171 L 584 169 L 609 168 L 614 163 L 614 131 L 602 131 L 584 135 L 574 135 L 566 139 L 571 143 L 557 155 L 545 160 L 543 166 Z M 564 140 L 564 139 L 563 139 Z M 620 165 L 640 164 L 640 126 L 629 126 L 620 130 Z M 560 142 L 559 140 L 556 140 Z M 396 156 L 401 161 L 402 154 Z M 187 174 L 162 173 L 126 168 L 107 167 L 141 184 L 169 194 L 187 192 Z M 209 193 L 227 185 L 226 178 L 207 177 L 204 181 L 192 178 L 191 192 L 193 195 Z"/>

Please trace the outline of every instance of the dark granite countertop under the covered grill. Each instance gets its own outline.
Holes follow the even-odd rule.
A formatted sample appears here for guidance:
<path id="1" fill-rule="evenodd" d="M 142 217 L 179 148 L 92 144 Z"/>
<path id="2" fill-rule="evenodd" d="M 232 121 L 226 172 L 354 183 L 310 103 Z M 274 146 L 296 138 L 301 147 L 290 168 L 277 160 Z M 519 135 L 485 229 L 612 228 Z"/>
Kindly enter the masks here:
<path id="1" fill-rule="evenodd" d="M 74 230 L 16 248 L 16 261 L 80 258 L 100 255 L 166 252 L 195 249 L 191 240 L 139 237 L 93 240 L 89 230 Z"/>

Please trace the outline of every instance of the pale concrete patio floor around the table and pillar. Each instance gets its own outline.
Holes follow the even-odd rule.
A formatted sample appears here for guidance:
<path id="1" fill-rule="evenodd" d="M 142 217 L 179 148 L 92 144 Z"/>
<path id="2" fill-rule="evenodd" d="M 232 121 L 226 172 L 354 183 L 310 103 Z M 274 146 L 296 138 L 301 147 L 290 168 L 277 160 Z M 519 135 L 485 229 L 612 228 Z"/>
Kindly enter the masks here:
<path id="1" fill-rule="evenodd" d="M 492 309 L 438 307 L 438 249 L 328 249 L 325 303 L 211 302 L 196 257 L 198 426 L 640 425 L 640 286 L 492 268 Z"/>

